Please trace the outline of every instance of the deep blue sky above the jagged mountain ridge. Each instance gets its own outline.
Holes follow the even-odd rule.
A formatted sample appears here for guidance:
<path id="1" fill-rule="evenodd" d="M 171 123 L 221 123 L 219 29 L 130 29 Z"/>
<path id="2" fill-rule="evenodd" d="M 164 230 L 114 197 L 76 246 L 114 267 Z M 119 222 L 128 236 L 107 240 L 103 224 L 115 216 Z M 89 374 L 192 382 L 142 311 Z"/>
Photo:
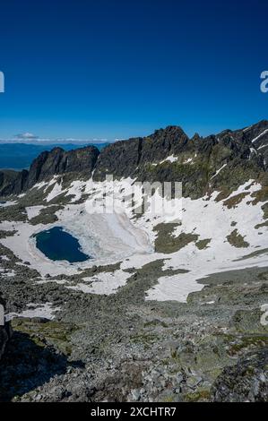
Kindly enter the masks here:
<path id="1" fill-rule="evenodd" d="M 267 0 L 5 0 L 0 138 L 203 135 L 268 118 Z"/>

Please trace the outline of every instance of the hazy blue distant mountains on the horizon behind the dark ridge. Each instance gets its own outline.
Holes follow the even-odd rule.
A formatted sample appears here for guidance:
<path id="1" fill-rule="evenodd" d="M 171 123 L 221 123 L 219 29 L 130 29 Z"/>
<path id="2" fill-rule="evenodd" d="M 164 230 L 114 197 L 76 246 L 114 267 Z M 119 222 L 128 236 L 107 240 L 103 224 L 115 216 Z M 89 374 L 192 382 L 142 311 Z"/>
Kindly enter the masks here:
<path id="1" fill-rule="evenodd" d="M 27 144 L 27 143 L 0 143 L 0 168 L 2 169 L 28 169 L 33 159 L 36 159 L 44 150 L 53 150 L 60 146 L 64 150 L 75 150 L 84 146 L 94 145 L 99 150 L 108 143 L 48 143 L 48 144 Z"/>

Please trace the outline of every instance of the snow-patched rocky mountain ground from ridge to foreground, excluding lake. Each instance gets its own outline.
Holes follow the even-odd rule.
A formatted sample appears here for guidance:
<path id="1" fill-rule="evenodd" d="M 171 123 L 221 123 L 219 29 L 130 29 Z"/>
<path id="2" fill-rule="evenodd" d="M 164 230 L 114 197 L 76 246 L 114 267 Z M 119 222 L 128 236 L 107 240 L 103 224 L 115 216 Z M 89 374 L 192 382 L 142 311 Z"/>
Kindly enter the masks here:
<path id="1" fill-rule="evenodd" d="M 55 148 L 0 194 L 1 401 L 268 400 L 268 121 Z M 41 253 L 56 227 L 91 259 Z"/>

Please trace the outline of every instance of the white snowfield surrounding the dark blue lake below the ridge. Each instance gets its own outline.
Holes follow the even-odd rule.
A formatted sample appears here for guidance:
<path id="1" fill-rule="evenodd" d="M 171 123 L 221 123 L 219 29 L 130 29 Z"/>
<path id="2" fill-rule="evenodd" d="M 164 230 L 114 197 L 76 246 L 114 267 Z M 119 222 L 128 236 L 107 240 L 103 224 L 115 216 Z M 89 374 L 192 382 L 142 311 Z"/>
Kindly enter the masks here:
<path id="1" fill-rule="evenodd" d="M 95 183 L 92 179 L 88 182 L 75 181 L 68 190 L 63 190 L 57 178 L 54 178 L 49 184 L 42 184 L 39 188 L 46 186 L 48 189 L 48 185 L 53 185 L 53 189 L 48 193 L 47 202 L 58 194 L 72 195 L 71 202 L 56 213 L 56 223 L 38 226 L 30 224 L 30 219 L 39 215 L 42 209 L 40 206 L 27 208 L 27 222 L 0 223 L 0 230 L 18 231 L 14 236 L 1 239 L 1 243 L 21 258 L 22 262 L 30 262 L 30 267 L 39 271 L 44 282 L 48 281 L 45 279 L 48 273 L 52 277 L 59 274 L 70 275 L 81 273 L 92 265 L 121 262 L 120 269 L 115 272 L 85 277 L 74 287 L 66 285 L 66 288 L 80 289 L 85 293 L 114 294 L 130 278 L 131 273 L 128 270 L 142 268 L 146 263 L 163 259 L 163 271 L 180 269 L 188 272 L 160 277 L 158 284 L 147 291 L 146 299 L 186 302 L 191 292 L 203 288 L 198 279 L 220 271 L 268 265 L 268 253 L 265 252 L 268 243 L 267 227 L 255 228 L 264 223 L 264 211 L 261 209 L 264 202 L 253 204 L 255 197 L 252 196 L 262 186 L 254 180 L 241 185 L 229 198 L 222 201 L 216 200 L 219 192 L 214 192 L 211 196 L 198 200 L 178 197 L 175 205 L 171 206 L 169 199 L 162 200 L 160 193 L 156 191 L 148 201 L 147 210 L 139 215 L 134 215 L 133 211 L 142 205 L 143 194 L 139 185 L 134 186 L 133 202 L 129 186 L 134 185 L 134 180 L 130 178 L 103 183 Z M 235 198 L 240 193 L 246 193 L 245 197 L 241 197 L 233 206 L 227 206 L 228 199 Z M 82 199 L 83 194 L 88 199 L 75 203 Z M 104 202 L 108 213 L 104 212 Z M 164 215 L 163 206 L 166 210 Z M 154 228 L 169 222 L 177 223 L 173 236 L 177 237 L 182 233 L 195 234 L 198 241 L 208 240 L 208 244 L 199 249 L 195 242 L 191 242 L 175 253 L 154 253 L 154 240 L 157 236 Z M 78 238 L 82 251 L 93 258 L 87 262 L 70 264 L 52 262 L 40 253 L 32 236 L 55 226 L 63 227 Z M 237 230 L 248 246 L 236 247 L 229 243 L 227 236 L 234 230 Z M 255 255 L 245 258 L 251 253 Z"/>

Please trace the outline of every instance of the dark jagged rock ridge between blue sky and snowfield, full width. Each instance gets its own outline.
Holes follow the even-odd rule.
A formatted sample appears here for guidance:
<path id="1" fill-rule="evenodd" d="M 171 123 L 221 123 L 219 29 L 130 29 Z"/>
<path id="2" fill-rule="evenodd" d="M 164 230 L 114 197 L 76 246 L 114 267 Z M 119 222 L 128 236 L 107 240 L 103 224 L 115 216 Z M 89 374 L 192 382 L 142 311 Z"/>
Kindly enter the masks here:
<path id="1" fill-rule="evenodd" d="M 170 156 L 174 161 L 165 161 Z M 228 165 L 228 170 L 215 176 Z M 56 174 L 73 173 L 96 181 L 107 175 L 115 178 L 132 176 L 140 181 L 180 181 L 184 195 L 200 197 L 210 190 L 228 190 L 245 183 L 249 178 L 267 178 L 268 121 L 237 131 L 225 130 L 205 138 L 198 134 L 190 139 L 177 126 L 157 130 L 151 136 L 116 142 L 99 150 L 86 147 L 66 152 L 55 148 L 42 152 L 30 166 L 15 176 L 2 176 L 0 194 L 18 194 L 36 183 Z M 214 177 L 215 176 L 215 177 Z"/>

